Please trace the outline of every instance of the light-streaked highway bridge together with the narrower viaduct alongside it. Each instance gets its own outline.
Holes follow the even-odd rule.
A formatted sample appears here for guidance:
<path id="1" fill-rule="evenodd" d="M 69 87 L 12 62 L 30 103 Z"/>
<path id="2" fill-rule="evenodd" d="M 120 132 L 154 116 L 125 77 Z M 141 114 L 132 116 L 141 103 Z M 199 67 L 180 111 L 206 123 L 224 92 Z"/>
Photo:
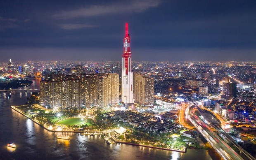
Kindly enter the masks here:
<path id="1" fill-rule="evenodd" d="M 193 104 L 186 109 L 188 119 L 223 159 L 243 160 L 241 156 L 243 153 L 243 157 L 246 157 L 246 159 L 256 160 L 220 127 L 218 122 L 214 120 L 211 114 L 206 114 L 190 98 L 189 100 Z M 216 132 L 213 132 L 209 126 L 214 128 Z M 230 147 L 230 144 L 239 149 L 240 155 Z"/>

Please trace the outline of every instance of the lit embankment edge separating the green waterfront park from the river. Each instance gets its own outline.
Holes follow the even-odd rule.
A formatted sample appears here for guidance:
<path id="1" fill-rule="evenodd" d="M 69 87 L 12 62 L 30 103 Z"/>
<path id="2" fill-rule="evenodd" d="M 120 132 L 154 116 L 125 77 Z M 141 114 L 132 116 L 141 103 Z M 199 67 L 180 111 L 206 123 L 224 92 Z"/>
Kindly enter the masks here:
<path id="1" fill-rule="evenodd" d="M 27 106 L 27 105 L 23 105 L 23 106 Z M 23 107 L 23 106 L 19 106 L 19 107 Z M 26 114 L 24 114 L 21 110 L 19 110 L 16 106 L 11 106 L 11 108 L 14 111 L 17 111 L 19 114 L 25 116 L 26 118 L 30 119 L 31 121 L 33 121 L 34 123 L 38 124 L 40 127 L 44 128 L 45 130 L 49 131 L 49 132 L 72 132 L 72 133 L 85 133 L 85 131 L 81 131 L 81 130 L 51 130 L 50 128 L 48 128 L 47 126 L 39 123 L 39 121 L 32 119 L 31 117 L 27 116 Z M 86 132 L 91 132 L 91 133 L 97 133 L 97 134 L 101 134 L 101 133 L 108 133 L 108 132 L 112 132 L 113 130 L 104 130 L 104 131 L 98 131 L 98 130 L 86 130 Z M 143 146 L 143 147 L 149 147 L 149 148 L 156 148 L 156 149 L 161 149 L 161 150 L 167 150 L 167 151 L 176 151 L 176 152 L 181 152 L 181 153 L 186 153 L 186 148 L 184 148 L 184 150 L 176 150 L 176 149 L 171 149 L 171 148 L 163 148 L 163 147 L 157 147 L 157 146 L 149 146 L 149 145 L 144 145 L 144 144 L 134 144 L 134 143 L 130 143 L 130 142 L 126 142 L 126 141 L 118 141 L 116 140 L 114 137 L 111 137 L 111 139 L 113 141 L 115 141 L 116 143 L 122 143 L 122 144 L 129 144 L 129 145 L 134 145 L 134 146 Z"/>

